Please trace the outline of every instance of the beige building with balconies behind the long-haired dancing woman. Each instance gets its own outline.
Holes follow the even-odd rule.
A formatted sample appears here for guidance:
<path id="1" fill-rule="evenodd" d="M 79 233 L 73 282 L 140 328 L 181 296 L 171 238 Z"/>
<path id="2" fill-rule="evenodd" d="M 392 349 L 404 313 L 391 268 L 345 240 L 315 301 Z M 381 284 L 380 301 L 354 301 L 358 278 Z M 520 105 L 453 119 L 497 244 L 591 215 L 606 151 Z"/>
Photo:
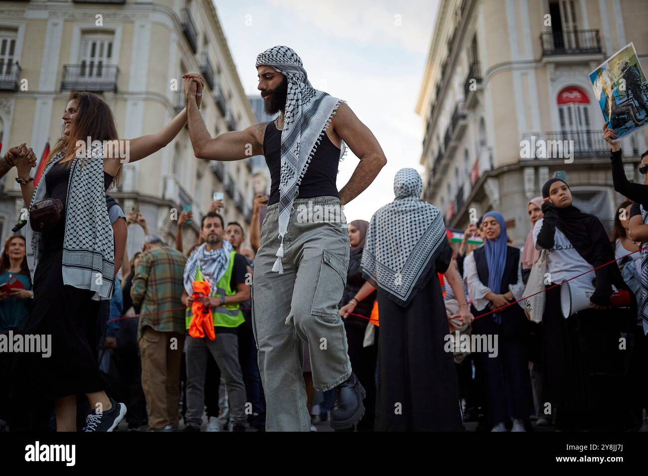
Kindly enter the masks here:
<path id="1" fill-rule="evenodd" d="M 182 74 L 207 82 L 202 114 L 211 135 L 257 122 L 244 94 L 211 0 L 58 0 L 0 3 L 0 141 L 27 142 L 40 158 L 60 137 L 72 90 L 92 91 L 110 105 L 120 137 L 154 133 L 184 106 Z M 141 210 L 150 232 L 174 242 L 178 213 L 190 206 L 185 250 L 213 192 L 224 192 L 227 221 L 247 229 L 253 199 L 251 160 L 194 157 L 185 127 L 143 161 L 124 164 L 122 185 L 109 193 L 125 212 Z M 24 207 L 15 170 L 3 179 L 1 236 Z M 129 253 L 143 232 L 129 228 Z"/>

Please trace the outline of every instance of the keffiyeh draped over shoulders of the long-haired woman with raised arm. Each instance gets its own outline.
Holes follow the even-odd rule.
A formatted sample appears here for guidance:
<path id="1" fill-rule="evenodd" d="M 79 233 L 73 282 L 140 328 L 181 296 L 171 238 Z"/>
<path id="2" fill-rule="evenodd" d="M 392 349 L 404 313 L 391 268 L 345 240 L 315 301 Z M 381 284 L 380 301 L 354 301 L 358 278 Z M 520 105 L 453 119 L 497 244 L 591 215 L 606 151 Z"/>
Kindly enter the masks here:
<path id="1" fill-rule="evenodd" d="M 34 203 L 45 198 L 47 172 L 64 153 L 58 153 L 45 167 L 43 180 L 34 191 Z M 65 238 L 63 242 L 63 283 L 95 291 L 93 299 L 111 299 L 115 280 L 113 229 L 106 209 L 104 189 L 104 147 L 93 146 L 87 156 L 77 155 L 70 167 L 65 199 Z M 29 219 L 28 219 L 29 220 Z M 42 253 L 42 233 L 26 227 L 27 265 L 34 279 Z"/>

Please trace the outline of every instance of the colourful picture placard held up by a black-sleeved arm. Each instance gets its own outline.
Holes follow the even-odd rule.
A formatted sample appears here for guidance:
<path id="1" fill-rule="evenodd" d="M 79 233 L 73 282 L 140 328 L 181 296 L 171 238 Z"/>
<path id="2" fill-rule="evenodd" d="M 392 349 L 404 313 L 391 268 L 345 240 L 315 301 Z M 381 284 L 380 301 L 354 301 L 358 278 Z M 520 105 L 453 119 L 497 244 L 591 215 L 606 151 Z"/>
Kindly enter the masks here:
<path id="1" fill-rule="evenodd" d="M 648 125 L 648 82 L 629 43 L 590 73 L 603 118 L 618 139 Z"/>

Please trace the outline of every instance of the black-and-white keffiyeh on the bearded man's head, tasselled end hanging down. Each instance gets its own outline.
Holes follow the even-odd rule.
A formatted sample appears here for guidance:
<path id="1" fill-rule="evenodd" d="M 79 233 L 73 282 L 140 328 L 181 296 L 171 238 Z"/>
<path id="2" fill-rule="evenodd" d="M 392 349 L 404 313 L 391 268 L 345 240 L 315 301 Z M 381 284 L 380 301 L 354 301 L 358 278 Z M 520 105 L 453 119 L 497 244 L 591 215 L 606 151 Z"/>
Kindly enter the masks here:
<path id="1" fill-rule="evenodd" d="M 293 201 L 299 183 L 306 174 L 308 163 L 317 150 L 341 100 L 314 89 L 301 59 L 291 48 L 275 46 L 257 56 L 256 67 L 270 66 L 286 76 L 288 94 L 284 109 L 284 129 L 281 132 L 281 181 L 279 183 L 279 238 L 272 271 L 283 273 L 283 237 L 294 212 Z M 342 143 L 340 158 L 345 144 Z"/>

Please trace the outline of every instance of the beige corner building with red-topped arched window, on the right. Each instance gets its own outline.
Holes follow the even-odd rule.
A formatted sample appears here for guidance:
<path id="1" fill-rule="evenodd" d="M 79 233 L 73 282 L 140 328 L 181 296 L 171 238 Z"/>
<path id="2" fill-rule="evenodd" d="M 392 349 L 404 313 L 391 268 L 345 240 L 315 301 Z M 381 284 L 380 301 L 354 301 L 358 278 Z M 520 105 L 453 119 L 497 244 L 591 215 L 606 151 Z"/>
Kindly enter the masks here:
<path id="1" fill-rule="evenodd" d="M 612 188 L 603 116 L 588 75 L 634 42 L 648 71 L 645 0 L 441 0 L 417 113 L 424 119 L 424 196 L 446 225 L 499 210 L 509 236 L 529 232 L 527 201 L 564 174 L 575 205 L 610 225 Z M 573 162 L 522 158 L 523 141 L 573 141 Z M 648 128 L 621 142 L 643 181 Z"/>

